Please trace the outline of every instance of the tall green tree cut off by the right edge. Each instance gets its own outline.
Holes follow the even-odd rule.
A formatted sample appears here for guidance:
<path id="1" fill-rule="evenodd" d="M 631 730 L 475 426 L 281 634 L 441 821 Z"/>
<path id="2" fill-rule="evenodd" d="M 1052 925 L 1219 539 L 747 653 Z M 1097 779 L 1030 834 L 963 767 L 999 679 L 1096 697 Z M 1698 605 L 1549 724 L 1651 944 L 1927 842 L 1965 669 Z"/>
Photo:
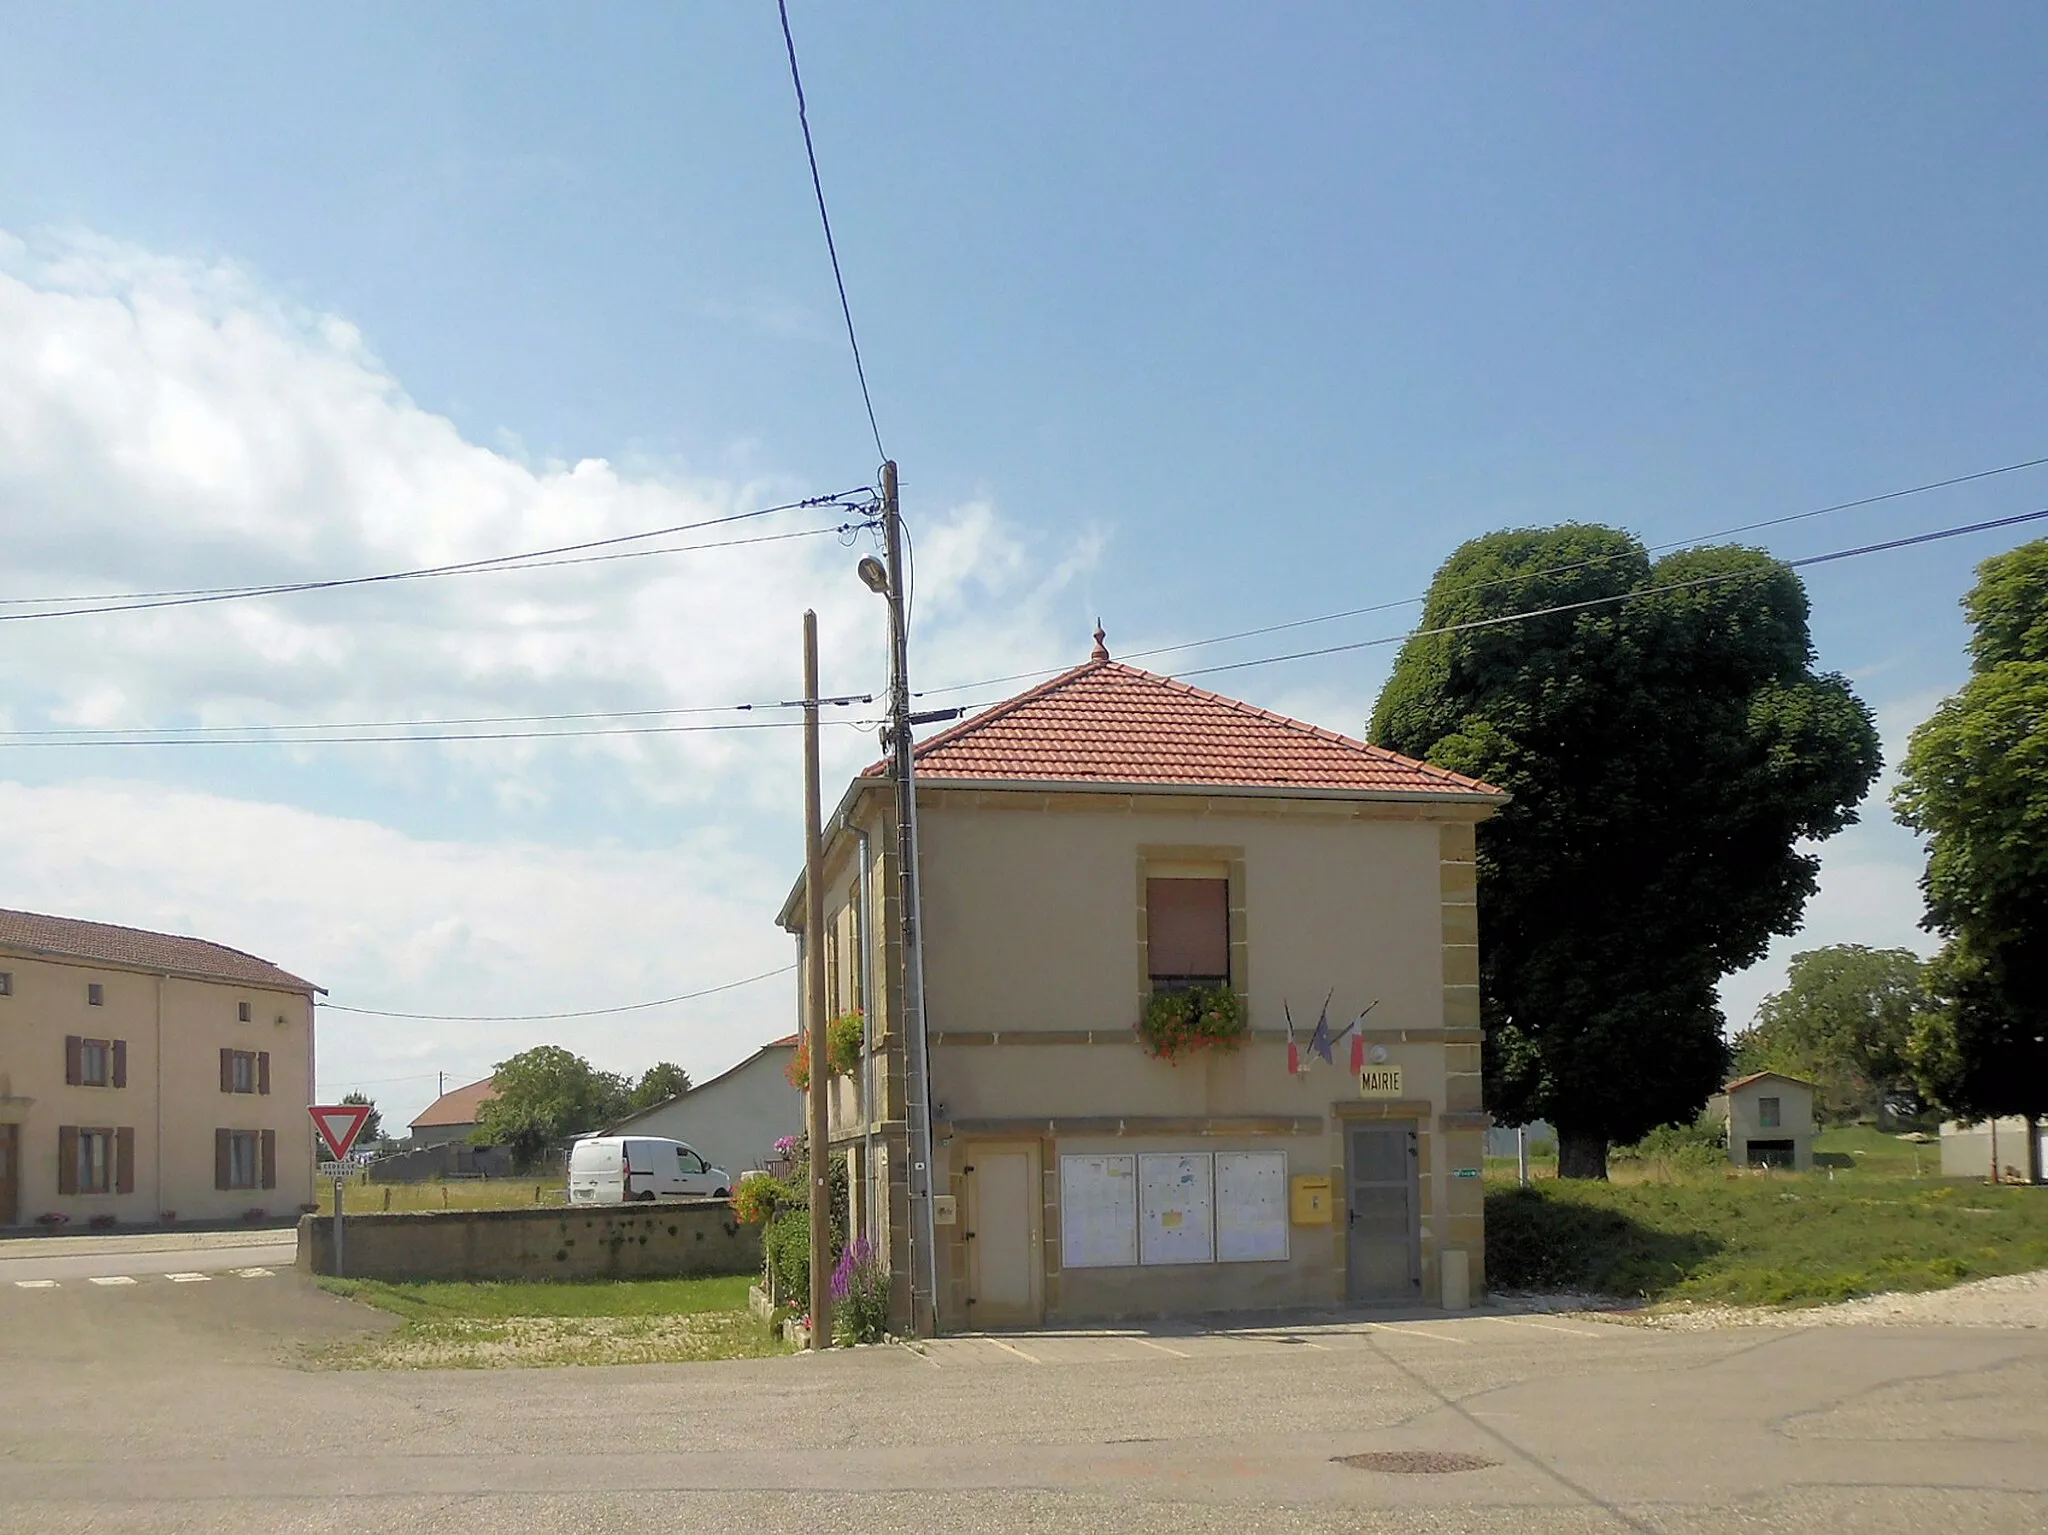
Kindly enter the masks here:
<path id="1" fill-rule="evenodd" d="M 2048 1113 L 2048 540 L 1976 569 L 1970 679 L 1915 733 L 1892 808 L 1927 837 L 1925 925 L 1952 1113 Z M 2036 1136 L 2028 1136 L 2038 1158 Z M 2032 1169 L 2040 1179 L 2040 1167 Z"/>

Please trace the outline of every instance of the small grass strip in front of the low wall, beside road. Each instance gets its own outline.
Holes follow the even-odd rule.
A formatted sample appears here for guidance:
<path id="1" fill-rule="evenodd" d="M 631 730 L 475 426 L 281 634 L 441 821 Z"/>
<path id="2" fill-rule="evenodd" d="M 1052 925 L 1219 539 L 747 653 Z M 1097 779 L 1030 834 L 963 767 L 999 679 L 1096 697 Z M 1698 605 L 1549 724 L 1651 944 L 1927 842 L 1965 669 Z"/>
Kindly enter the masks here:
<path id="1" fill-rule="evenodd" d="M 657 1365 L 786 1353 L 748 1312 L 748 1277 L 592 1283 L 322 1279 L 322 1289 L 403 1318 L 324 1353 L 332 1369 Z"/>

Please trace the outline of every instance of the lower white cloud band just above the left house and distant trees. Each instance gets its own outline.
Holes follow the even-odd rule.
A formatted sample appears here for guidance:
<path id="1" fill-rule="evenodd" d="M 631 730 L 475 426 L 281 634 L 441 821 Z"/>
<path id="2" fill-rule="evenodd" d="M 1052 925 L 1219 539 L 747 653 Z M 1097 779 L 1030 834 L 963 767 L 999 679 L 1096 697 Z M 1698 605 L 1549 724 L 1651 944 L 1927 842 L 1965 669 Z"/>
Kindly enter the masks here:
<path id="1" fill-rule="evenodd" d="M 549 1013 L 717 986 L 791 962 L 774 911 L 791 870 L 705 827 L 670 847 L 563 849 L 406 837 L 365 819 L 133 780 L 0 782 L 6 903 L 250 950 L 338 1003 Z M 793 980 L 549 1023 L 322 1013 L 319 1087 L 389 1083 L 408 1120 L 432 1072 L 467 1081 L 532 1044 L 600 1066 L 680 1060 L 698 1079 L 784 1034 Z"/>

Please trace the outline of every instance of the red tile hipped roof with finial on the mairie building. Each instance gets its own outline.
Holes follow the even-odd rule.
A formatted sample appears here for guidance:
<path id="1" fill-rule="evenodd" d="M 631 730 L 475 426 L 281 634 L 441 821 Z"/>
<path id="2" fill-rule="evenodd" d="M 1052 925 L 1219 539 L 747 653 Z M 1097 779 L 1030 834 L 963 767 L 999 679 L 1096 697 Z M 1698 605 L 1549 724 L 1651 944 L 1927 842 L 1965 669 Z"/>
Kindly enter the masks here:
<path id="1" fill-rule="evenodd" d="M 877 763 L 866 776 L 881 776 Z M 1120 661 L 1096 659 L 934 735 L 924 778 L 1505 798 L 1491 784 Z"/>

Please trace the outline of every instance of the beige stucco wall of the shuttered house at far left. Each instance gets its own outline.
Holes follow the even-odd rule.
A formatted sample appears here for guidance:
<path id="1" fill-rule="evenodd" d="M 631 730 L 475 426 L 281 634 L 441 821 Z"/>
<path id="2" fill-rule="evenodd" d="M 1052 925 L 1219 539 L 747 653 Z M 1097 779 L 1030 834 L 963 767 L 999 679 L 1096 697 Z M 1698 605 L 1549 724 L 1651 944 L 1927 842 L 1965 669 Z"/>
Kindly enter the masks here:
<path id="1" fill-rule="evenodd" d="M 260 1208 L 293 1214 L 313 1197 L 313 999 L 186 976 L 0 950 L 12 995 L 0 997 L 0 1122 L 18 1126 L 18 1220 L 63 1212 L 154 1222 L 231 1220 Z M 104 1005 L 86 986 L 104 989 Z M 250 1003 L 252 1021 L 238 1021 Z M 283 1019 L 283 1021 L 279 1021 Z M 66 1036 L 127 1042 L 127 1087 L 68 1087 Z M 270 1054 L 270 1093 L 221 1093 L 223 1048 Z M 131 1128 L 133 1193 L 57 1193 L 57 1128 Z M 215 1189 L 213 1132 L 274 1130 L 274 1189 Z"/>

